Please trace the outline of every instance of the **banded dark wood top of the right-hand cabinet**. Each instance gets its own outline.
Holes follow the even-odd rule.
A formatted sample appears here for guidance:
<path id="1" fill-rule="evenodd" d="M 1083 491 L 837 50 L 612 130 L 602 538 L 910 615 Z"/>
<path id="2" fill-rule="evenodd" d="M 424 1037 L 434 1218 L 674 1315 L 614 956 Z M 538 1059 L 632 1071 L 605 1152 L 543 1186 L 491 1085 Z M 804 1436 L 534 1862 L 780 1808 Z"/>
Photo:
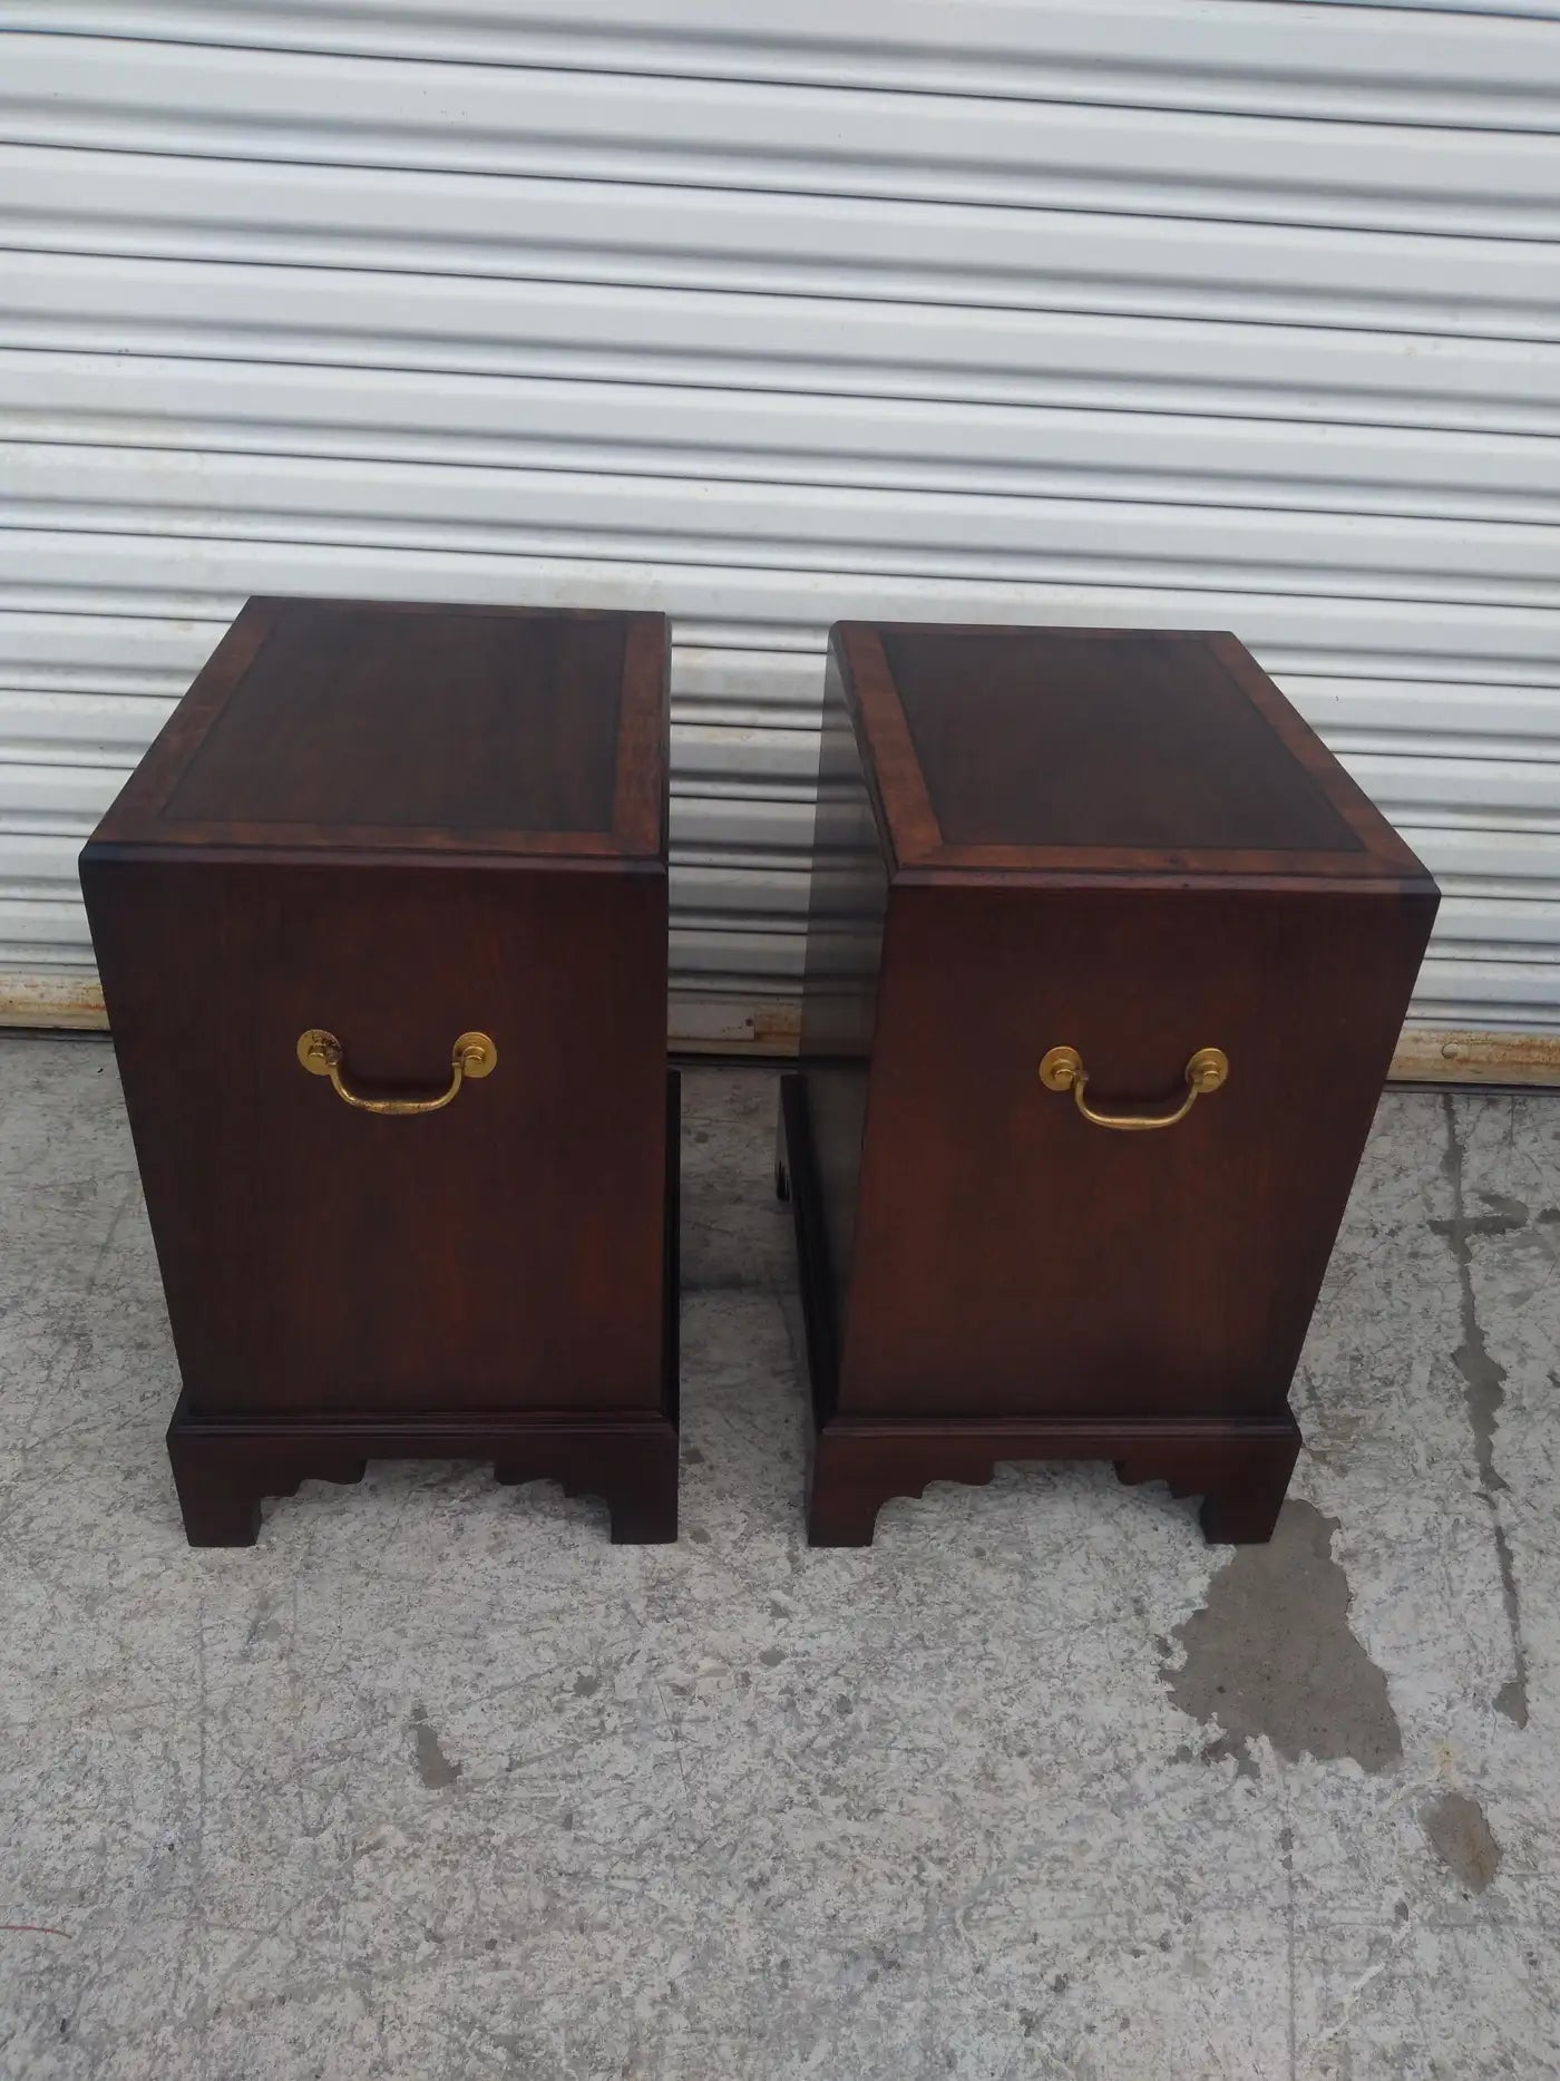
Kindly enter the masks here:
<path id="1" fill-rule="evenodd" d="M 847 622 L 901 866 L 1423 876 L 1231 635 Z"/>

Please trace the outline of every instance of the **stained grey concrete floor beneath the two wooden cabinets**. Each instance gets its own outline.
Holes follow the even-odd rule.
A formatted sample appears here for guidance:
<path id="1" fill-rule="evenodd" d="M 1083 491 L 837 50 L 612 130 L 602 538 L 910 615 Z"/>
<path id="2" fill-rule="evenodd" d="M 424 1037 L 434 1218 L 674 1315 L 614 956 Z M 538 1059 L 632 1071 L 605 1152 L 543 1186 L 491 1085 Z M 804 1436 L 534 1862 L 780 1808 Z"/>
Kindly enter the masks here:
<path id="1" fill-rule="evenodd" d="M 1094 1467 L 809 1552 L 772 1107 L 684 1088 L 678 1546 L 196 1555 L 112 1055 L 0 1038 L 0 2073 L 1560 2075 L 1560 1103 L 1383 1101 L 1233 1557 Z"/>

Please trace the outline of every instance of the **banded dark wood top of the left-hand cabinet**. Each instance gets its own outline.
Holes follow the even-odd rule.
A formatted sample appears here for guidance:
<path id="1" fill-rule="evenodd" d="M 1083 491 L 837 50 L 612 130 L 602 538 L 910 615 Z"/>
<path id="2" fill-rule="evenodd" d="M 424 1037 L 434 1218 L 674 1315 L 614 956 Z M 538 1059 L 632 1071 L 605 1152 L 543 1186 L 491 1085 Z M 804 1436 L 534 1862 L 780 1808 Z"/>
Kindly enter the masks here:
<path id="1" fill-rule="evenodd" d="M 666 622 L 252 599 L 100 841 L 657 853 Z"/>

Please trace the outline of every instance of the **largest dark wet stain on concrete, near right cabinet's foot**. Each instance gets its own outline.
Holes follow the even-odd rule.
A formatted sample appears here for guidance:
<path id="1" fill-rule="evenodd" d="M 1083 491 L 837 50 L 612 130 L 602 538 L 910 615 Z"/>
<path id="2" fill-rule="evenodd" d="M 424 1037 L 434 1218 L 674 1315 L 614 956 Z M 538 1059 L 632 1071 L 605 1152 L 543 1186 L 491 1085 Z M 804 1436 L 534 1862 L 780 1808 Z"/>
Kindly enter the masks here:
<path id="1" fill-rule="evenodd" d="M 1163 1667 L 1175 1704 L 1223 1729 L 1202 1756 L 1250 1761 L 1267 1736 L 1288 1761 L 1352 1756 L 1385 1771 L 1402 1756 L 1387 1679 L 1348 1623 L 1348 1575 L 1333 1561 L 1337 1519 L 1290 1500 L 1267 1546 L 1240 1546 L 1208 1598 L 1175 1629 L 1179 1669 Z"/>

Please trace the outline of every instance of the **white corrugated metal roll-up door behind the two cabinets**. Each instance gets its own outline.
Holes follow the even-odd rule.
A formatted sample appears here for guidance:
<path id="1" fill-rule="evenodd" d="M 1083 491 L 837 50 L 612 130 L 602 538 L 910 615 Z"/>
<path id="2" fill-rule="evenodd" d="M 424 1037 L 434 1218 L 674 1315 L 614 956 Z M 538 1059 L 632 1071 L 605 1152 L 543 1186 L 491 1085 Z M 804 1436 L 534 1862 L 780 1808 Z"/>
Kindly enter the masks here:
<path id="1" fill-rule="evenodd" d="M 1558 15 L 0 0 L 0 1016 L 297 591 L 668 610 L 768 1043 L 830 620 L 1233 628 L 1444 882 L 1404 1061 L 1560 1061 Z"/>

